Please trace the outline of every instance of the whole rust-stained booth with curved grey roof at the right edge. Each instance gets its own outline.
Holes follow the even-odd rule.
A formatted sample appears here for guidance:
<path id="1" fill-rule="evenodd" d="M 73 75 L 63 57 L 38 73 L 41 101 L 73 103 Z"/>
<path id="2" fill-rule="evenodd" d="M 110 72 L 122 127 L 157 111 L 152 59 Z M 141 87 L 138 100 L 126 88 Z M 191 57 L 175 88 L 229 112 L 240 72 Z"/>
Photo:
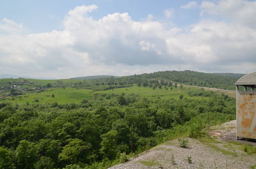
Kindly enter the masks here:
<path id="1" fill-rule="evenodd" d="M 256 72 L 236 82 L 237 138 L 256 139 Z"/>

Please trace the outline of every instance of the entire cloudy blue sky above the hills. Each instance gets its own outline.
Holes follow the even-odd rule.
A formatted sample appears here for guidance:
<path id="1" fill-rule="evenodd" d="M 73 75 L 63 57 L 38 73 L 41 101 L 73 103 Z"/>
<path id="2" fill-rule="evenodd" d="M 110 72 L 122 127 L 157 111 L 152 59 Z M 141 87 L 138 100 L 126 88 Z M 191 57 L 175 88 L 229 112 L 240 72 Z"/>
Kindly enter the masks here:
<path id="1" fill-rule="evenodd" d="M 256 1 L 1 0 L 0 74 L 256 71 Z"/>

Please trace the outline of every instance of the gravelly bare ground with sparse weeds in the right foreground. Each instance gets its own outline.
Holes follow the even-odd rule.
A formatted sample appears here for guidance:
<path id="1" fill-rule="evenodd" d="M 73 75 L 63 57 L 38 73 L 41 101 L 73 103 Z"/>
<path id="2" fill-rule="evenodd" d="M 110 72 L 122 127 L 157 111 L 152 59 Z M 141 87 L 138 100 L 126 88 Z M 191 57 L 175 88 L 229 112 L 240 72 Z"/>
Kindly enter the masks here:
<path id="1" fill-rule="evenodd" d="M 131 161 L 109 169 L 144 168 L 252 168 L 255 154 L 243 151 L 243 140 L 236 142 L 236 122 L 214 126 L 209 134 L 212 139 L 187 138 L 188 148 L 181 148 L 178 140 L 166 142 L 143 152 Z M 190 159 L 190 161 L 189 161 Z"/>

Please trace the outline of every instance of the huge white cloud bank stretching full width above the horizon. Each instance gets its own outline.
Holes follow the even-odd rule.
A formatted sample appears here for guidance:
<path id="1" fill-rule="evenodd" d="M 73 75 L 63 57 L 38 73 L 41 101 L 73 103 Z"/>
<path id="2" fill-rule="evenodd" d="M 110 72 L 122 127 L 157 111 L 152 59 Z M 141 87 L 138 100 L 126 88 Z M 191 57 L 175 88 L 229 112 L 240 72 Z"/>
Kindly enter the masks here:
<path id="1" fill-rule="evenodd" d="M 204 2 L 202 10 L 211 5 Z M 160 21 L 136 22 L 128 13 L 95 20 L 89 13 L 96 9 L 76 7 L 64 18 L 62 31 L 49 33 L 24 34 L 21 24 L 2 21 L 0 29 L 15 29 L 0 33 L 1 73 L 52 78 L 131 75 L 173 70 L 177 64 L 197 71 L 255 70 L 256 30 L 239 20 L 209 19 L 170 29 Z M 237 70 L 241 66 L 247 67 Z"/>

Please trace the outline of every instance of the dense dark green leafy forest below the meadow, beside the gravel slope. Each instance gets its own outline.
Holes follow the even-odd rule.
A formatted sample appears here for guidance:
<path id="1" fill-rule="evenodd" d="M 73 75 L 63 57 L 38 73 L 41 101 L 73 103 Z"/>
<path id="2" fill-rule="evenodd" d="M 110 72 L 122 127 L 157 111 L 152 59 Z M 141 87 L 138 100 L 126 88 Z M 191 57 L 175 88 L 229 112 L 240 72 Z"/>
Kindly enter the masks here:
<path id="1" fill-rule="evenodd" d="M 97 94 L 81 104 L 1 103 L 0 168 L 104 168 L 180 129 L 196 137 L 211 124 L 234 119 L 233 98 L 206 91 L 189 94 L 200 98 Z M 177 129 L 180 125 L 187 129 Z"/>

